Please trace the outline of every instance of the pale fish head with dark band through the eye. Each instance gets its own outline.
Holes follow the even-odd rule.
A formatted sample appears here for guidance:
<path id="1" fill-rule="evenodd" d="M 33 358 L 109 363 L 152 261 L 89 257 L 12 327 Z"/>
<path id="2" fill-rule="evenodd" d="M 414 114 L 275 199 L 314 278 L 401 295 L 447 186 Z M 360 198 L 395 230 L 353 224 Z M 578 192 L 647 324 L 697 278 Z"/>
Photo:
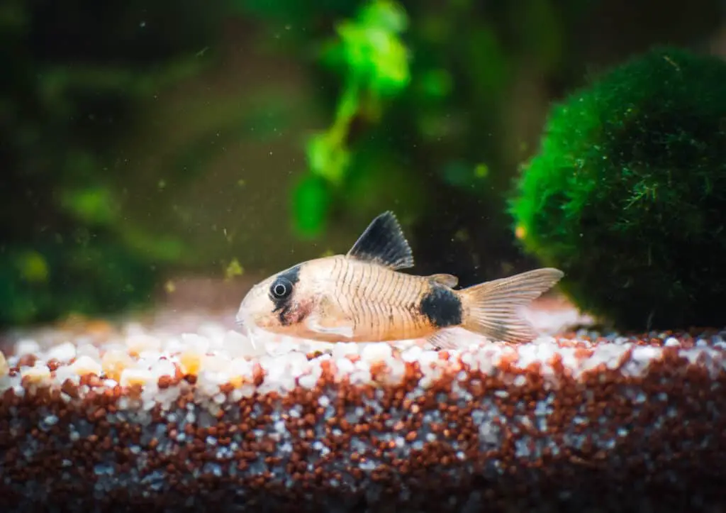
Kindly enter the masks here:
<path id="1" fill-rule="evenodd" d="M 237 310 L 240 331 L 248 336 L 256 329 L 295 335 L 298 326 L 313 312 L 318 296 L 316 276 L 320 273 L 311 272 L 311 267 L 321 266 L 303 262 L 250 288 Z"/>

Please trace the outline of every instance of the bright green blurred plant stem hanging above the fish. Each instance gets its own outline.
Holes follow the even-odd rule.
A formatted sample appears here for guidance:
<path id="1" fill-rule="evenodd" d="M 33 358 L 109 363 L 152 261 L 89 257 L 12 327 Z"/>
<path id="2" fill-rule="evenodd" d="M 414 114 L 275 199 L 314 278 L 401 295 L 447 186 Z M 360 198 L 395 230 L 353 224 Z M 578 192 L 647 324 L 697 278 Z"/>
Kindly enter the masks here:
<path id="1" fill-rule="evenodd" d="M 343 78 L 333 124 L 310 137 L 306 145 L 309 173 L 293 192 L 295 227 L 317 235 L 325 227 L 333 187 L 340 187 L 351 161 L 348 137 L 356 118 L 374 122 L 387 100 L 409 84 L 408 52 L 400 35 L 406 13 L 389 0 L 364 4 L 352 20 L 336 25 L 338 37 L 327 41 L 323 62 Z"/>

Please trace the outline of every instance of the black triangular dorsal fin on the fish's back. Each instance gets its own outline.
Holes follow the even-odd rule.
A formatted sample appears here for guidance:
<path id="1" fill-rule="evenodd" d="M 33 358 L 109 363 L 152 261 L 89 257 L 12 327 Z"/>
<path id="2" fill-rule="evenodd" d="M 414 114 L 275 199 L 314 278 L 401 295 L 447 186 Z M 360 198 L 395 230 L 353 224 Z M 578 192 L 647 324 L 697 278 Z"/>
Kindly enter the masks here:
<path id="1" fill-rule="evenodd" d="M 411 248 L 391 211 L 373 219 L 346 256 L 393 270 L 413 267 Z"/>

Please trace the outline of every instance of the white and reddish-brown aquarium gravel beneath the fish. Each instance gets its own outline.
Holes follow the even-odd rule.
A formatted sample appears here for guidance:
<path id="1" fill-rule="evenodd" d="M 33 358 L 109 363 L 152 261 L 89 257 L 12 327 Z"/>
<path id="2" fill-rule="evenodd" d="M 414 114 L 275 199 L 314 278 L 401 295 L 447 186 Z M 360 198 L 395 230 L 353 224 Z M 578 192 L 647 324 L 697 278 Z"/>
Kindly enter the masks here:
<path id="1" fill-rule="evenodd" d="M 2 511 L 720 511 L 725 331 L 436 352 L 233 318 L 7 339 Z"/>

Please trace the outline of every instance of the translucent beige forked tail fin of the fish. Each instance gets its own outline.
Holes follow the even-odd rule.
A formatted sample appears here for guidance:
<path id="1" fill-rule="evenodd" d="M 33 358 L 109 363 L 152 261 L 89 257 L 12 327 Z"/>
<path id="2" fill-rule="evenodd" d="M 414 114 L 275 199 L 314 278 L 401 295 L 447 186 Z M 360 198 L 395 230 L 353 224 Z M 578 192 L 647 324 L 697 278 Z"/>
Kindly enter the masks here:
<path id="1" fill-rule="evenodd" d="M 537 332 L 518 309 L 552 288 L 564 275 L 546 267 L 462 289 L 462 328 L 504 342 L 535 339 Z"/>

